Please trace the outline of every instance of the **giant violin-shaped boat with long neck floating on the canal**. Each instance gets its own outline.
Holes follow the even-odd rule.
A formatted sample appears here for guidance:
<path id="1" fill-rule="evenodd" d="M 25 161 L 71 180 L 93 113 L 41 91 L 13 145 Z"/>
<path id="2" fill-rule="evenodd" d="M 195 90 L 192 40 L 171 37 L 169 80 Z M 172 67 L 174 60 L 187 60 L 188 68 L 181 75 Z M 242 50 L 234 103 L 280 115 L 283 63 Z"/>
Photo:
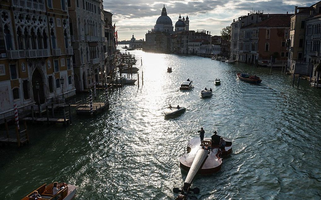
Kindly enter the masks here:
<path id="1" fill-rule="evenodd" d="M 216 135 L 216 137 L 220 136 Z M 202 142 L 199 138 L 193 138 L 188 142 L 187 154 L 179 159 L 180 167 L 188 174 L 181 189 L 173 188 L 174 193 L 180 193 L 176 200 L 185 200 L 191 191 L 194 194 L 200 192 L 199 188 L 191 188 L 196 174 L 213 174 L 222 168 L 222 158 L 232 153 L 231 140 L 224 137 L 223 139 L 226 141 L 224 149 L 219 147 L 219 141 L 213 141 L 211 138 L 204 138 Z"/>

